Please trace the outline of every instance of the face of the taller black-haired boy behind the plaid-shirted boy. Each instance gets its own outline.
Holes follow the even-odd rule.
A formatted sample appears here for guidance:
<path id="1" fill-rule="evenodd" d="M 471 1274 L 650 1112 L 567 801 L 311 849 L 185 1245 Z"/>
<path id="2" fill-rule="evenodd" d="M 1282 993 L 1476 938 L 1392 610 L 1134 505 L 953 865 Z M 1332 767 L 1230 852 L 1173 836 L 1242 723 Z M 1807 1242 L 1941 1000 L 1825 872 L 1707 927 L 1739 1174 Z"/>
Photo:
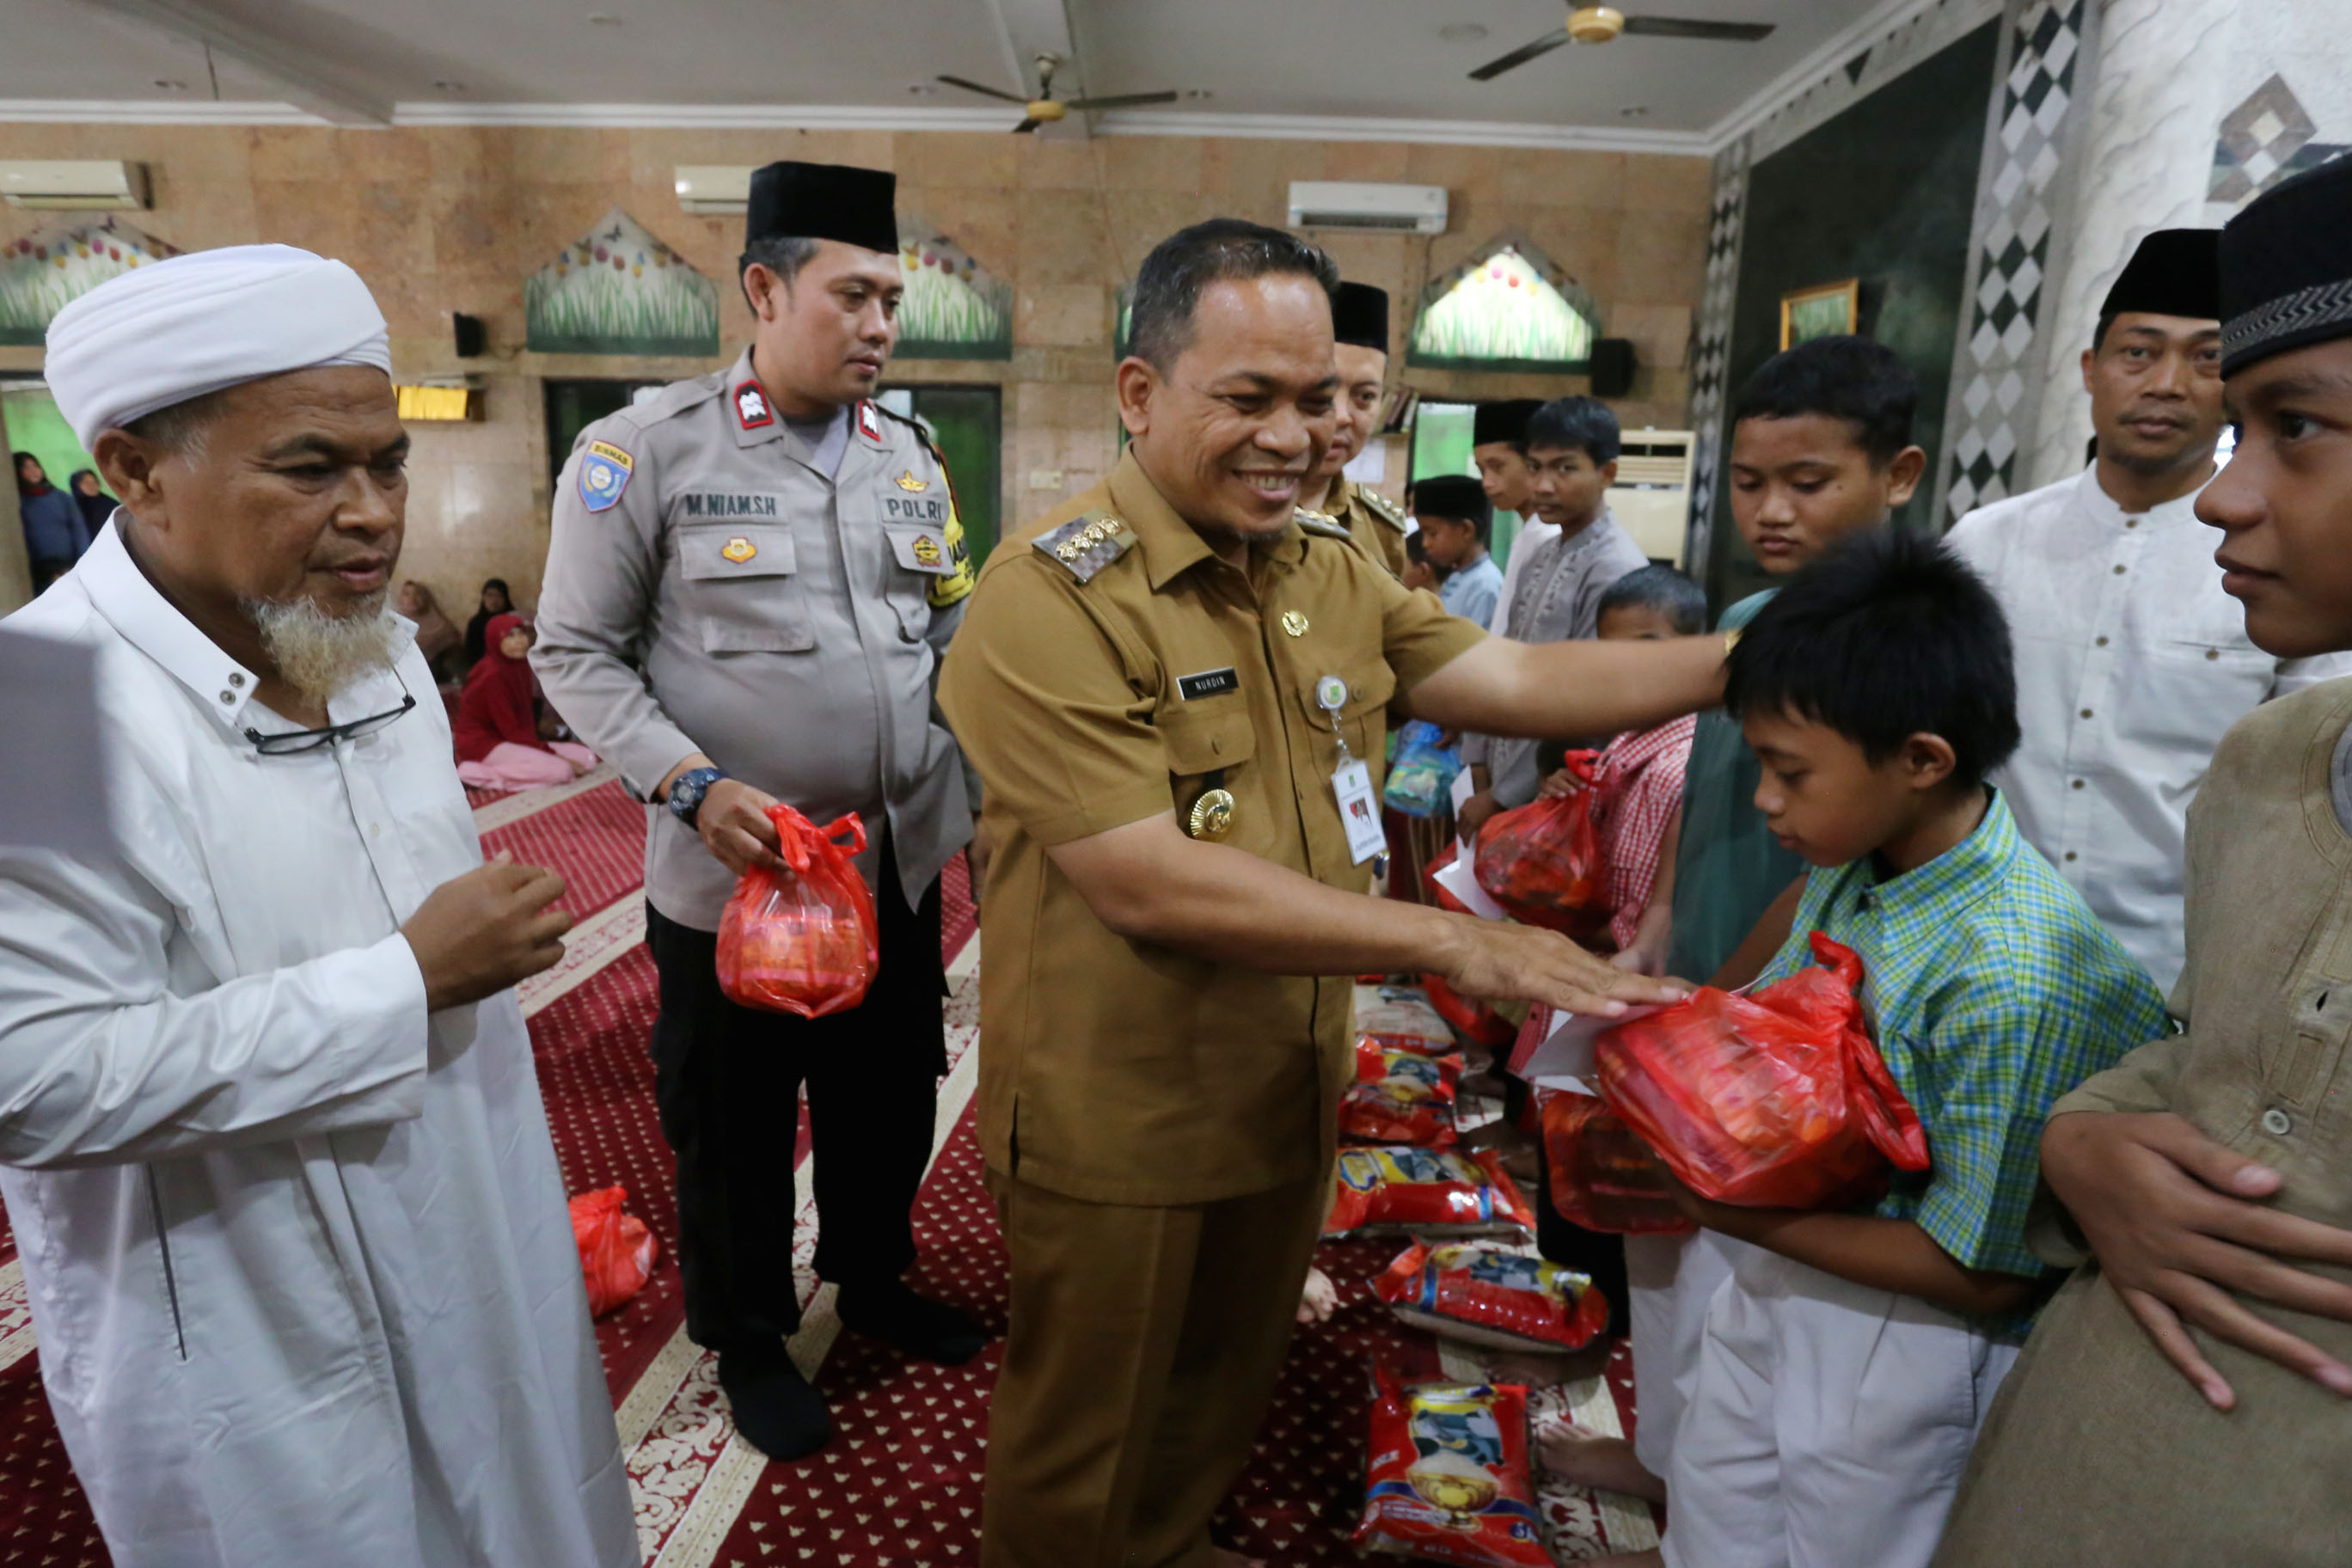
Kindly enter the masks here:
<path id="1" fill-rule="evenodd" d="M 1912 498 L 1926 454 L 1875 463 L 1849 418 L 1743 418 L 1731 433 L 1731 520 L 1757 564 L 1785 576 L 1858 529 L 1884 527 Z"/>

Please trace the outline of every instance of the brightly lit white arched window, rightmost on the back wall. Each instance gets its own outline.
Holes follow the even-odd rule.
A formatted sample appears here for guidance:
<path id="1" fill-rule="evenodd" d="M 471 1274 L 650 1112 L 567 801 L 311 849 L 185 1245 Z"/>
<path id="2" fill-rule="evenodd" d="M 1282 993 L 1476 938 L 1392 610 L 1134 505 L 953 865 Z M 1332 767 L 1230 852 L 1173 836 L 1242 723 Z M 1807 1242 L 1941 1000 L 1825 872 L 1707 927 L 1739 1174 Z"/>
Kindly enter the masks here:
<path id="1" fill-rule="evenodd" d="M 1406 364 L 1437 369 L 1581 371 L 1599 310 L 1526 240 L 1501 240 L 1435 277 L 1406 343 Z"/>

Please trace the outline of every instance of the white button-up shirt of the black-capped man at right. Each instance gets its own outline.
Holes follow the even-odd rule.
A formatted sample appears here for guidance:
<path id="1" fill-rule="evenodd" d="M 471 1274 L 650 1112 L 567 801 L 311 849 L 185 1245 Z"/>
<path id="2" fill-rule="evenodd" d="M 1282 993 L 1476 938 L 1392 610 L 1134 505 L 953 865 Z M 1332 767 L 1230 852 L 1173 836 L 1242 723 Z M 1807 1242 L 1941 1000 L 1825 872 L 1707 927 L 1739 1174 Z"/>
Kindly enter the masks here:
<path id="1" fill-rule="evenodd" d="M 2098 468 L 1962 517 L 2018 661 L 2023 743 L 1992 783 L 2018 832 L 2166 992 L 2183 964 L 2187 811 L 2213 748 L 2352 656 L 2274 658 L 2223 592 L 2197 496 L 2126 515 Z"/>

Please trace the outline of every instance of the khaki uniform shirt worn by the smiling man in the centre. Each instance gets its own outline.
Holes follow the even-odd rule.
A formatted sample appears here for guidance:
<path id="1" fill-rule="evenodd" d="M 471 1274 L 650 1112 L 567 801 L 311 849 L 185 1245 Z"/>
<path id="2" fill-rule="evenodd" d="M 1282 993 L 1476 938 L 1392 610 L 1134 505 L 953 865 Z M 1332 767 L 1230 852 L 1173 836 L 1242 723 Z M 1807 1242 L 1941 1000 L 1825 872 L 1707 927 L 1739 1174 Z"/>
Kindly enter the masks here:
<path id="1" fill-rule="evenodd" d="M 1310 1180 L 1355 1077 L 1350 978 L 1270 976 L 1115 936 L 1047 849 L 1232 792 L 1225 844 L 1364 891 L 1315 684 L 1381 788 L 1388 708 L 1484 639 L 1324 520 L 1218 559 L 1129 454 L 1004 541 L 941 705 L 997 839 L 981 966 L 981 1150 L 1103 1204 Z"/>

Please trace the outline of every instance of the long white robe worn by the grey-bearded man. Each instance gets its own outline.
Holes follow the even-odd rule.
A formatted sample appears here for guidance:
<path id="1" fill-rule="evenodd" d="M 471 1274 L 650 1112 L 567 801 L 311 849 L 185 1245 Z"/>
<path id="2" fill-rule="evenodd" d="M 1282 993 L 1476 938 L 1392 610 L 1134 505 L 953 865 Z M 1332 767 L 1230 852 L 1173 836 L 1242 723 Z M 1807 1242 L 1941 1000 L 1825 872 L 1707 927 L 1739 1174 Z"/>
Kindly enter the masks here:
<path id="1" fill-rule="evenodd" d="M 122 842 L 0 851 L 0 1192 L 115 1566 L 637 1563 L 522 1011 L 400 936 L 482 863 L 423 658 L 261 757 L 113 527 L 9 628 L 92 649 Z"/>

